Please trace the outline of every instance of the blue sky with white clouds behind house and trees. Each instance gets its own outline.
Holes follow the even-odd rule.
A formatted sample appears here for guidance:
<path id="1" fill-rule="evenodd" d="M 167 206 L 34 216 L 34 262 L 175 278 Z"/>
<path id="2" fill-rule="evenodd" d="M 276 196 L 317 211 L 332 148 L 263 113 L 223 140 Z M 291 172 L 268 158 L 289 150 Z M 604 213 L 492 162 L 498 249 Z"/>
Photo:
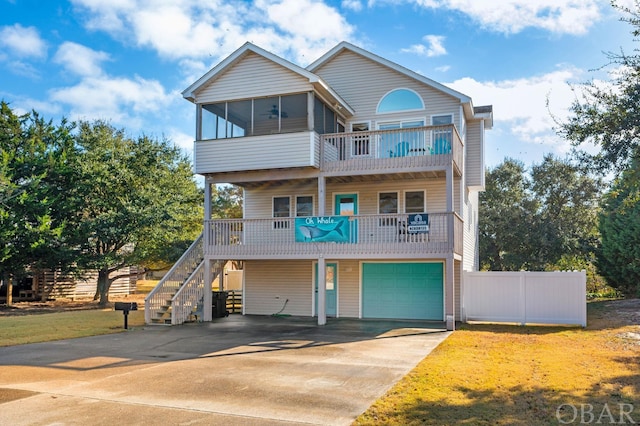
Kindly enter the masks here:
<path id="1" fill-rule="evenodd" d="M 181 92 L 245 42 L 306 67 L 348 41 L 493 105 L 486 166 L 530 166 L 570 150 L 554 128 L 572 88 L 636 48 L 621 17 L 609 0 L 0 0 L 0 100 L 192 156 Z"/>

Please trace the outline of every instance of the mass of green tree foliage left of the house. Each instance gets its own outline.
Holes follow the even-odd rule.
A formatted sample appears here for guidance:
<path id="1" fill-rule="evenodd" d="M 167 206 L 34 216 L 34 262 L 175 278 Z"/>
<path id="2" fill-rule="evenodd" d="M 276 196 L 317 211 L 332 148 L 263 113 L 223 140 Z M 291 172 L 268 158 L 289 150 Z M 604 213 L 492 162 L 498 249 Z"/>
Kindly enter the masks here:
<path id="1" fill-rule="evenodd" d="M 0 273 L 166 268 L 202 229 L 203 193 L 168 141 L 102 121 L 55 126 L 0 104 Z"/>

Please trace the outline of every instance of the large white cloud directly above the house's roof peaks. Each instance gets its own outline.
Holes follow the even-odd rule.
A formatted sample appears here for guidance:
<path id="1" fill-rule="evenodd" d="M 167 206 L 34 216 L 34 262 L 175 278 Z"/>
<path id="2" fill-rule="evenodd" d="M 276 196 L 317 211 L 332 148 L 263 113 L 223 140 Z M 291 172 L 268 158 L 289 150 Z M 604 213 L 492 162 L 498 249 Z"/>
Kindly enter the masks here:
<path id="1" fill-rule="evenodd" d="M 164 58 L 217 61 L 251 41 L 297 63 L 311 62 L 354 29 L 319 0 L 73 0 L 86 26 Z"/>

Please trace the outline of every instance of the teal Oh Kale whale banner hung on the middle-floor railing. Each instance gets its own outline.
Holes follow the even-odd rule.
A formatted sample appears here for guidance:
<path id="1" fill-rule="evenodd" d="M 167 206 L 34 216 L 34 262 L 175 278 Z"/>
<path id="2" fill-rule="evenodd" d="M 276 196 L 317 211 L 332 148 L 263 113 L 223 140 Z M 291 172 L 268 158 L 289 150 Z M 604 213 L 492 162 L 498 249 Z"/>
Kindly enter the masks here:
<path id="1" fill-rule="evenodd" d="M 296 218 L 296 243 L 348 243 L 349 217 L 309 216 Z"/>

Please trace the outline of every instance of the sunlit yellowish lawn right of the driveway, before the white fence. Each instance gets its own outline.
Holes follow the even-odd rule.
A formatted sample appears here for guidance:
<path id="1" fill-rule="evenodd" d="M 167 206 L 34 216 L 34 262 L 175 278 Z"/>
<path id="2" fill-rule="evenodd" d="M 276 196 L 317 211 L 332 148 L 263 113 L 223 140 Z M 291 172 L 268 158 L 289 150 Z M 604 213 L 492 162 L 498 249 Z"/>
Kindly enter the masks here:
<path id="1" fill-rule="evenodd" d="M 624 337 L 640 329 L 615 318 L 595 302 L 585 329 L 463 325 L 354 424 L 580 423 L 590 406 L 593 423 L 640 422 L 640 340 Z"/>

